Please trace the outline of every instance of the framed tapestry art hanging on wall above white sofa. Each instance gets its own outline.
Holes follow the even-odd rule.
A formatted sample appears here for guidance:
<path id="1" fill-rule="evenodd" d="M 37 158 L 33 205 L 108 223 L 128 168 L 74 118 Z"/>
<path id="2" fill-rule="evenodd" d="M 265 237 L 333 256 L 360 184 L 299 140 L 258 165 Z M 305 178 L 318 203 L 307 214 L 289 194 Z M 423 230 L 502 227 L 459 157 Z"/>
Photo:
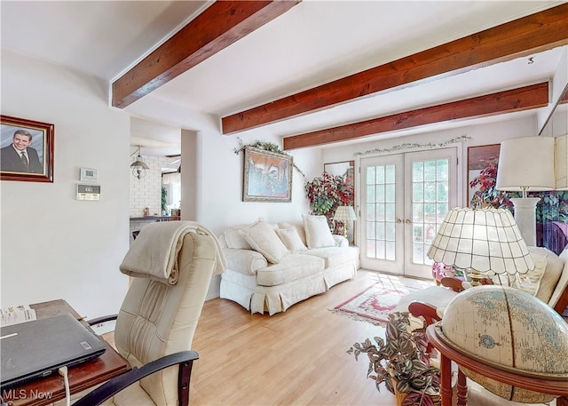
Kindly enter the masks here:
<path id="1" fill-rule="evenodd" d="M 292 156 L 245 148 L 243 202 L 291 202 Z"/>

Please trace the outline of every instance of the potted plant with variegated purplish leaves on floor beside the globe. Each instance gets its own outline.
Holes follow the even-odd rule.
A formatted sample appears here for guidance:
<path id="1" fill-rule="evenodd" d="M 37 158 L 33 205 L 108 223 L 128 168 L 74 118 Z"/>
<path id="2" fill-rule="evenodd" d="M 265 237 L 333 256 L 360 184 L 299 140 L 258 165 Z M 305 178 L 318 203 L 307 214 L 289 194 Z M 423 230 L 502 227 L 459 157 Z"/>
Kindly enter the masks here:
<path id="1" fill-rule="evenodd" d="M 375 337 L 355 343 L 347 351 L 358 359 L 369 358 L 367 378 L 375 379 L 377 390 L 384 385 L 397 395 L 401 406 L 434 406 L 440 400 L 438 368 L 430 365 L 430 351 L 425 330 L 410 330 L 409 313 L 389 314 L 386 340 Z"/>

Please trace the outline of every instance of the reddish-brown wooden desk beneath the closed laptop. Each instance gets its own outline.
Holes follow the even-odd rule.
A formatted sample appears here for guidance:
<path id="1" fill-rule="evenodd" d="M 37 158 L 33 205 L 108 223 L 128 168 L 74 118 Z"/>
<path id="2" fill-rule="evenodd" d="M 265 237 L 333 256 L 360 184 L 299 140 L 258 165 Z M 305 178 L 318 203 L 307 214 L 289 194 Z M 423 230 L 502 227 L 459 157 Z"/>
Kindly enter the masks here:
<path id="1" fill-rule="evenodd" d="M 38 319 L 64 313 L 73 314 L 77 319 L 81 319 L 80 315 L 65 300 L 52 300 L 30 305 L 30 307 L 36 310 Z M 89 326 L 87 322 L 83 323 Z M 130 364 L 114 351 L 112 346 L 106 343 L 105 353 L 97 359 L 76 365 L 68 370 L 71 394 L 97 386 L 127 370 L 130 370 Z M 2 397 L 10 406 L 47 405 L 65 399 L 63 377 L 52 375 L 48 378 L 36 379 L 24 386 L 4 389 Z"/>

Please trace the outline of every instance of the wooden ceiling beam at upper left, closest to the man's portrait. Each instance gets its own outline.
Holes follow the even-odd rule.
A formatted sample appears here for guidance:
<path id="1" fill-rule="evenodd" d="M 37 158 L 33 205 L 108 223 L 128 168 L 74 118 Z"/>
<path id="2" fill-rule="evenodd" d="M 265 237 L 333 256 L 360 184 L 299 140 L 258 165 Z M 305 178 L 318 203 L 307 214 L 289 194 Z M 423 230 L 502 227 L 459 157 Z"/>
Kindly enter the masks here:
<path id="1" fill-rule="evenodd" d="M 113 106 L 127 107 L 262 27 L 301 0 L 217 1 L 112 84 Z"/>

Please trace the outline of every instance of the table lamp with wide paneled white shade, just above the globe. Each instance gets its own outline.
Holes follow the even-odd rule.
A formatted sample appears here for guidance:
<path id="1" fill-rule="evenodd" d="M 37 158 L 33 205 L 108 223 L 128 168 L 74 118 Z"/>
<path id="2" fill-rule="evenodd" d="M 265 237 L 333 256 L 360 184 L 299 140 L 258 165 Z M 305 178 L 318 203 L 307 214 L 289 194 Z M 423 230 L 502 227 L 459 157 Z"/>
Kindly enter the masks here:
<path id="1" fill-rule="evenodd" d="M 534 263 L 510 211 L 456 207 L 446 214 L 428 258 L 469 269 L 472 285 L 495 275 L 525 274 Z"/>

